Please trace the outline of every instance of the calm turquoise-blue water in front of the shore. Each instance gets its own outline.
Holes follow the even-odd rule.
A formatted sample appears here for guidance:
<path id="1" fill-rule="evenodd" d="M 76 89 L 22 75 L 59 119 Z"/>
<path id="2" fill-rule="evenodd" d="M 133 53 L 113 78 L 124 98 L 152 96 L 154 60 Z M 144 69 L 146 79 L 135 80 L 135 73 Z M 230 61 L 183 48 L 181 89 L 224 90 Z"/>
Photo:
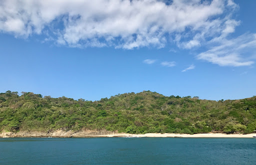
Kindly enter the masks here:
<path id="1" fill-rule="evenodd" d="M 255 138 L 0 138 L 0 164 L 255 164 Z"/>

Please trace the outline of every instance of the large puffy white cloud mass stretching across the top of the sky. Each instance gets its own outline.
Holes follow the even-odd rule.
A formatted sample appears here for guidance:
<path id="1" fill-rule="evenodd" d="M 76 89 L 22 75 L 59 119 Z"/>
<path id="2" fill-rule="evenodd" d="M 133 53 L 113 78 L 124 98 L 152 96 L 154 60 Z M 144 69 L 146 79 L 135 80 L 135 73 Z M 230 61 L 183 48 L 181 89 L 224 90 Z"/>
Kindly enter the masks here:
<path id="1" fill-rule="evenodd" d="M 232 1 L 1 0 L 0 31 L 28 37 L 47 29 L 56 43 L 72 47 L 160 48 L 166 34 L 204 28 L 228 5 Z"/>

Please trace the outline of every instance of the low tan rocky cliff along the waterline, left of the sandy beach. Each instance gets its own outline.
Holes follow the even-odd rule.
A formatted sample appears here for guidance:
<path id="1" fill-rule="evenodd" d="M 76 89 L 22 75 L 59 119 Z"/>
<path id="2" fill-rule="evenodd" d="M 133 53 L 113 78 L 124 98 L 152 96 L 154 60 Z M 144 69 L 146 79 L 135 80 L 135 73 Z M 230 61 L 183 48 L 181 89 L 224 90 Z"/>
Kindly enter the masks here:
<path id="1" fill-rule="evenodd" d="M 117 131 L 108 130 L 83 130 L 83 131 L 64 131 L 56 130 L 51 132 L 39 131 L 18 131 L 18 132 L 2 132 L 0 137 L 94 137 L 98 135 L 116 134 Z"/>

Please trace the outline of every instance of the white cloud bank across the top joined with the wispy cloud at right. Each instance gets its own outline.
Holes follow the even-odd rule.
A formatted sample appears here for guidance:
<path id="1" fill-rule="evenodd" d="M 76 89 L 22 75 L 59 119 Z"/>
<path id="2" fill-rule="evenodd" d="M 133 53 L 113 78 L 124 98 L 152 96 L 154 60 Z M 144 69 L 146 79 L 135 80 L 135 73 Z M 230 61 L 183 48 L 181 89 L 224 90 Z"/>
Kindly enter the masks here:
<path id="1" fill-rule="evenodd" d="M 44 41 L 71 47 L 208 47 L 198 59 L 251 65 L 241 53 L 254 46 L 254 37 L 238 36 L 236 43 L 247 45 L 222 51 L 240 24 L 232 18 L 237 9 L 232 0 L 0 0 L 0 31 L 24 38 L 45 35 Z"/>

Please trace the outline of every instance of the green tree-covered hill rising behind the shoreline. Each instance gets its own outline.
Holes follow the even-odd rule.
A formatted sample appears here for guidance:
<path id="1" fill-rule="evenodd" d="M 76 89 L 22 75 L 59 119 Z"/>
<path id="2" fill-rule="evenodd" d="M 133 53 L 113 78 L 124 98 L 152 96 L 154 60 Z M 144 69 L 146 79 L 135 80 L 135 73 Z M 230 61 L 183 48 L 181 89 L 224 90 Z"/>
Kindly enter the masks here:
<path id="1" fill-rule="evenodd" d="M 0 131 L 250 133 L 256 129 L 256 96 L 213 101 L 143 91 L 88 101 L 21 93 L 0 93 Z"/>

